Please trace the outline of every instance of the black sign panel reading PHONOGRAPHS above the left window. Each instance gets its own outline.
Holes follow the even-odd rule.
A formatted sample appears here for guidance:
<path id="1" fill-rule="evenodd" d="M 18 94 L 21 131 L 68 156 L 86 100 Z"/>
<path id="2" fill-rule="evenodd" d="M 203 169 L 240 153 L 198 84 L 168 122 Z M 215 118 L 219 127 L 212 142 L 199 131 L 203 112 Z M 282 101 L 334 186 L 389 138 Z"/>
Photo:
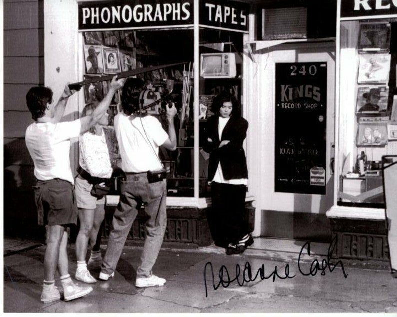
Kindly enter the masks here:
<path id="1" fill-rule="evenodd" d="M 80 2 L 78 29 L 118 29 L 193 24 L 193 0 Z"/>

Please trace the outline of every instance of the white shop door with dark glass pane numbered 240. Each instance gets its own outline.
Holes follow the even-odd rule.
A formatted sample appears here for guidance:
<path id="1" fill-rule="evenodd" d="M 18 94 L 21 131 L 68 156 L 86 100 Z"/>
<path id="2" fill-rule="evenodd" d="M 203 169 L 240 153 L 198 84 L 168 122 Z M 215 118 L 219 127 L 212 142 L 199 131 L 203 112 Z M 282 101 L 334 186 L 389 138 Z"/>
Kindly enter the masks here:
<path id="1" fill-rule="evenodd" d="M 251 174 L 255 207 L 261 211 L 255 227 L 262 236 L 328 240 L 325 213 L 334 199 L 335 42 L 290 42 L 256 52 L 252 72 L 257 79 L 248 88 L 260 91 L 259 100 L 252 100 L 258 107 L 248 111 L 255 122 L 251 127 L 261 131 L 260 140 L 255 135 L 250 142 L 259 145 L 260 157 L 248 158 L 251 171 L 261 171 Z"/>

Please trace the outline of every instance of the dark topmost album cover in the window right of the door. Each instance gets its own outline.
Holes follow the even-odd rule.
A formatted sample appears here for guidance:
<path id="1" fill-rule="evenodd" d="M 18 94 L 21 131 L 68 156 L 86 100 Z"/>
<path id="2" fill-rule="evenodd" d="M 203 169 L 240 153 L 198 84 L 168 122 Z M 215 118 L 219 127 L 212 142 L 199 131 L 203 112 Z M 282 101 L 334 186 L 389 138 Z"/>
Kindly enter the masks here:
<path id="1" fill-rule="evenodd" d="M 360 23 L 358 49 L 363 51 L 384 51 L 390 49 L 390 23 Z"/>

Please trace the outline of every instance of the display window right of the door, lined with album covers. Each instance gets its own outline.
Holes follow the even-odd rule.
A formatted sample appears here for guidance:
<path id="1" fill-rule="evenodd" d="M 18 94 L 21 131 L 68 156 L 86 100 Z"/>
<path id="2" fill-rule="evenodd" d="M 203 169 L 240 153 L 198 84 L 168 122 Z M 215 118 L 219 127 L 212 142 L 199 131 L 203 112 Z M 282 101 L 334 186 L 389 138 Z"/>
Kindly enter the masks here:
<path id="1" fill-rule="evenodd" d="M 338 28 L 337 205 L 384 208 L 382 157 L 397 154 L 397 18 L 375 7 L 361 12 L 361 5 L 348 13 L 345 3 Z"/>

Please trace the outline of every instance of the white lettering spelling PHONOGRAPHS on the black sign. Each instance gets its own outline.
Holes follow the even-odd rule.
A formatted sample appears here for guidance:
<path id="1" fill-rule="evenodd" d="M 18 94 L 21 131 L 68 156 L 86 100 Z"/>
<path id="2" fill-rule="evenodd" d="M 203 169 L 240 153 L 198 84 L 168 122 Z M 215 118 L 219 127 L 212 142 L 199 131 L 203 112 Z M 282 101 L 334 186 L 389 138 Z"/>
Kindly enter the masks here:
<path id="1" fill-rule="evenodd" d="M 164 4 L 137 4 L 111 6 L 111 7 L 84 7 L 81 9 L 82 24 L 107 24 L 134 22 L 167 21 L 172 17 L 173 21 L 188 20 L 190 18 L 190 3 L 164 3 Z M 230 15 L 230 13 L 228 13 Z"/>

